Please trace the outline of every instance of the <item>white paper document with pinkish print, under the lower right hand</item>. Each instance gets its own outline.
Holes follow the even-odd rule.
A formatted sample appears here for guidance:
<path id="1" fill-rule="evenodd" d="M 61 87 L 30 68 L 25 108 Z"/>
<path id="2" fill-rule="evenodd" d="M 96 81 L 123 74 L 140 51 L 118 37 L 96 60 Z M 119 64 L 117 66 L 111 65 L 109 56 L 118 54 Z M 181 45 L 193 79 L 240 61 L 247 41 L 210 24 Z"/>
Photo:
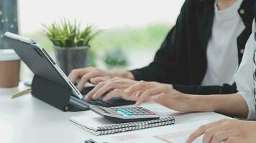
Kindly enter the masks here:
<path id="1" fill-rule="evenodd" d="M 207 124 L 209 121 L 203 120 L 191 122 L 187 124 L 177 124 L 173 126 L 157 127 L 129 133 L 113 134 L 109 136 L 96 137 L 97 143 L 184 143 L 188 136 L 201 125 Z M 193 143 L 201 143 L 202 136 L 198 137 Z"/>

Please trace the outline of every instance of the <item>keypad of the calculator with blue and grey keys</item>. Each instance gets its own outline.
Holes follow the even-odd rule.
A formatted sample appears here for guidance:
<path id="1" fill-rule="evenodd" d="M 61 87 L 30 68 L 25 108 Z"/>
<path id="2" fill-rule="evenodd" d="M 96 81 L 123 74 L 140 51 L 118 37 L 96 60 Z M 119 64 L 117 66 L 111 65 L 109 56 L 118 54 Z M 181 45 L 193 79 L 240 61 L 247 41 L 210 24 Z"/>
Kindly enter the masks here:
<path id="1" fill-rule="evenodd" d="M 143 107 L 114 107 L 111 109 L 126 116 L 155 115 L 155 112 L 152 112 Z"/>

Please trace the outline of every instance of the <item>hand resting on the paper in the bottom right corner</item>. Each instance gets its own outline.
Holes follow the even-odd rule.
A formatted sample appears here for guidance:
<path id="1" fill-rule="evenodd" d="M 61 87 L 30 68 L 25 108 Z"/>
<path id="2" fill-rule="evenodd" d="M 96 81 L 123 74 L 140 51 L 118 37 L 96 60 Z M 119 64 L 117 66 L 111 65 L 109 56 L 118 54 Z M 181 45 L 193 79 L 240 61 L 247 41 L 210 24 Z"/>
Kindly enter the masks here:
<path id="1" fill-rule="evenodd" d="M 221 119 L 199 127 L 196 132 L 191 134 L 186 143 L 191 143 L 197 137 L 204 134 L 204 143 L 219 142 L 255 142 L 256 141 L 256 122 L 240 121 L 234 119 Z"/>

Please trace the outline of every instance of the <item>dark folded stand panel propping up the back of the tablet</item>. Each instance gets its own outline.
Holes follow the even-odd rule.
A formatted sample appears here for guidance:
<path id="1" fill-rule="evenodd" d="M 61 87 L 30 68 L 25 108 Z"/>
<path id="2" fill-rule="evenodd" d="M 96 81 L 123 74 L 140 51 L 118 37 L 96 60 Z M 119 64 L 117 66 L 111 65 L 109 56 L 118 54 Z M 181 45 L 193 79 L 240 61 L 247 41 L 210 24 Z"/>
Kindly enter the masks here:
<path id="1" fill-rule="evenodd" d="M 32 82 L 32 95 L 53 107 L 65 112 L 68 111 L 68 103 L 71 94 L 72 89 L 62 87 L 37 75 L 34 76 Z"/>

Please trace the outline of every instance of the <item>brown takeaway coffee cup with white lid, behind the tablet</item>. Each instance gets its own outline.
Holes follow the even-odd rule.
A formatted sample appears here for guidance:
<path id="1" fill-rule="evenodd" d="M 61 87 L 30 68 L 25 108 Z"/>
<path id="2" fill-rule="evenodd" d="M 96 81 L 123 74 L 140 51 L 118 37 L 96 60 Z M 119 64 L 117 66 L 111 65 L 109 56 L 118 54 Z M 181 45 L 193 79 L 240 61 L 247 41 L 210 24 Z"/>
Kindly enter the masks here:
<path id="1" fill-rule="evenodd" d="M 0 88 L 18 87 L 20 62 L 13 49 L 0 49 Z"/>

